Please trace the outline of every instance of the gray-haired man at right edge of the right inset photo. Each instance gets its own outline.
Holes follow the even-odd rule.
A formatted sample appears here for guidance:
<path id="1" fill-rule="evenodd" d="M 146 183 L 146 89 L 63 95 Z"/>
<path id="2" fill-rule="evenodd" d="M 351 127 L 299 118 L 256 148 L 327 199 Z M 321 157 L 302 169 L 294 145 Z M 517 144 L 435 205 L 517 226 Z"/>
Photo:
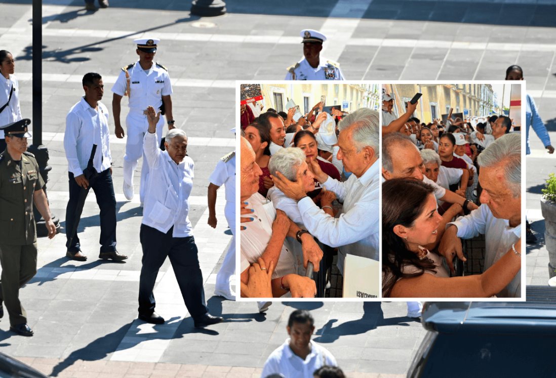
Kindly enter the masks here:
<path id="1" fill-rule="evenodd" d="M 452 267 L 455 255 L 465 261 L 459 238 L 485 235 L 485 263 L 488 269 L 521 237 L 521 137 L 507 134 L 497 138 L 478 157 L 479 182 L 483 187 L 481 206 L 448 224 L 439 252 Z M 512 253 L 512 252 L 508 252 Z M 521 253 L 515 251 L 513 253 Z M 497 296 L 519 297 L 520 272 Z"/>

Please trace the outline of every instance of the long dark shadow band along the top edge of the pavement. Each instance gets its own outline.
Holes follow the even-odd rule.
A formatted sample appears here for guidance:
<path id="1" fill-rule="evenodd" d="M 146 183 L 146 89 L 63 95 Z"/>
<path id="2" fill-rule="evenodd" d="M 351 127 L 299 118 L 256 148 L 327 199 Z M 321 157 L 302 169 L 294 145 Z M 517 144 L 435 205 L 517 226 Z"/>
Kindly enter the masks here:
<path id="1" fill-rule="evenodd" d="M 29 4 L 29 0 L 7 0 L 13 4 Z M 43 4 L 56 4 L 56 0 L 44 0 Z M 71 6 L 83 6 L 82 0 L 71 2 Z M 363 7 L 366 6 L 366 9 Z M 118 0 L 112 1 L 108 9 L 100 12 L 110 14 L 113 8 L 156 9 L 162 11 L 191 11 L 191 1 L 180 0 Z M 227 13 L 265 14 L 270 16 L 367 18 L 404 21 L 433 21 L 469 24 L 489 24 L 502 26 L 554 27 L 556 4 L 535 4 L 519 2 L 493 2 L 492 0 L 372 0 L 359 4 L 345 4 L 338 1 L 314 2 L 309 0 L 282 0 L 280 6 L 272 0 L 256 3 L 248 1 L 226 1 Z M 67 22 L 72 12 L 54 18 Z M 93 13 L 93 12 L 91 12 Z M 78 14 L 79 16 L 79 14 Z M 76 17 L 78 17 L 76 16 Z M 108 16 L 110 17 L 110 16 Z M 253 21 L 255 22 L 255 21 Z"/>

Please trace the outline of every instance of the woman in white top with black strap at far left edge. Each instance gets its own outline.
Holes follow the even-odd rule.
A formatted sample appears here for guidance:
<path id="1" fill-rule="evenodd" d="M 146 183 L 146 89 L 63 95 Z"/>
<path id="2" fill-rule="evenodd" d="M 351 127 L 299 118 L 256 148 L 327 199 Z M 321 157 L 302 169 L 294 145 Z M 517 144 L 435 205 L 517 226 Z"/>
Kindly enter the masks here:
<path id="1" fill-rule="evenodd" d="M 22 119 L 19 109 L 19 85 L 13 75 L 16 63 L 12 53 L 0 50 L 0 126 L 8 125 Z M 6 149 L 4 131 L 0 130 L 0 152 Z"/>

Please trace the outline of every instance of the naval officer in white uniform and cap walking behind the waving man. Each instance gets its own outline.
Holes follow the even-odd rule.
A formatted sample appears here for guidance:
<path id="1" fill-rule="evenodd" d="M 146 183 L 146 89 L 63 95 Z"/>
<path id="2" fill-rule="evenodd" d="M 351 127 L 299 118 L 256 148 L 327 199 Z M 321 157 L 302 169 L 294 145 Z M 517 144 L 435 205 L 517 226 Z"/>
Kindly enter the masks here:
<path id="1" fill-rule="evenodd" d="M 123 194 L 128 200 L 133 199 L 133 171 L 143 155 L 143 137 L 148 128 L 146 116 L 147 106 L 160 109 L 166 115 L 168 130 L 174 128 L 172 116 L 172 85 L 168 70 L 153 59 L 156 54 L 157 44 L 160 39 L 141 38 L 135 39 L 136 53 L 139 60 L 122 67 L 120 76 L 112 87 L 112 113 L 116 128 L 116 137 L 123 138 L 125 132 L 120 123 L 121 101 L 123 96 L 128 96 L 130 112 L 126 117 L 127 141 L 126 155 L 123 157 Z M 162 127 L 164 120 L 160 117 L 156 125 L 158 144 L 162 140 Z M 141 185 L 139 197 L 141 204 L 145 202 L 145 192 L 148 177 L 148 165 L 144 163 L 141 169 Z"/>

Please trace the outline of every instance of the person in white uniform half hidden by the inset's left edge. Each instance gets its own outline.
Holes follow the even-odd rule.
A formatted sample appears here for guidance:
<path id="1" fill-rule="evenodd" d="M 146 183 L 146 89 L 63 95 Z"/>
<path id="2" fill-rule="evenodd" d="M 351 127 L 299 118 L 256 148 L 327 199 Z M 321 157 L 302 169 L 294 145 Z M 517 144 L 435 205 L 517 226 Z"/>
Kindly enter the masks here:
<path id="1" fill-rule="evenodd" d="M 230 301 L 236 300 L 236 294 L 231 287 L 231 278 L 236 270 L 236 220 L 235 220 L 235 196 L 236 196 L 236 152 L 232 151 L 223 156 L 209 177 L 209 226 L 216 228 L 216 191 L 222 185 L 226 186 L 226 207 L 224 215 L 232 231 L 230 248 L 226 252 L 220 271 L 216 275 L 215 295 L 225 297 Z"/>

